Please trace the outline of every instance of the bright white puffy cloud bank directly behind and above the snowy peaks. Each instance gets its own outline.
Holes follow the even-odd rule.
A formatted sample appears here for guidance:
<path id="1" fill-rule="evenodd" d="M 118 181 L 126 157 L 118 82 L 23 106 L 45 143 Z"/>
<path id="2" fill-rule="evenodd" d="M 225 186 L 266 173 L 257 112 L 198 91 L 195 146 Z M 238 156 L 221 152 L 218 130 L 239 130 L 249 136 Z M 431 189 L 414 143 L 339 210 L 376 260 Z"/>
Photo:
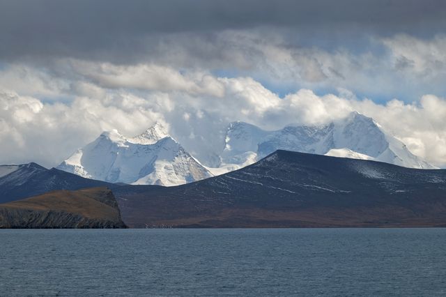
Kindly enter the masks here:
<path id="1" fill-rule="evenodd" d="M 382 105 L 358 100 L 345 89 L 324 96 L 301 89 L 280 98 L 250 77 L 212 77 L 208 82 L 218 82 L 223 96 L 189 88 L 141 92 L 77 82 L 73 89 L 80 91 L 72 101 L 44 102 L 3 90 L 0 163 L 34 161 L 55 166 L 102 130 L 116 128 L 132 136 L 161 121 L 199 160 L 216 165 L 217 154 L 224 147 L 226 125 L 231 121 L 275 130 L 289 123 L 322 125 L 357 110 L 406 142 L 413 153 L 434 165 L 446 165 L 444 98 L 426 95 L 413 103 L 395 99 Z"/>

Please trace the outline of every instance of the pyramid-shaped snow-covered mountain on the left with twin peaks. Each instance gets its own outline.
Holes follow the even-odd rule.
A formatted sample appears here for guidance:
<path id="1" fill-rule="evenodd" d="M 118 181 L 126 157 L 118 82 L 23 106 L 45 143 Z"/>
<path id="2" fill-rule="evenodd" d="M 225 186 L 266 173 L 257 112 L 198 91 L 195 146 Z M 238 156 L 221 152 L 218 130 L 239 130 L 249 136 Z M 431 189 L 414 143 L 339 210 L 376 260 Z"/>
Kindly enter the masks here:
<path id="1" fill-rule="evenodd" d="M 126 138 L 117 130 L 102 132 L 56 168 L 86 178 L 135 185 L 180 185 L 212 176 L 160 123 L 136 137 Z"/>

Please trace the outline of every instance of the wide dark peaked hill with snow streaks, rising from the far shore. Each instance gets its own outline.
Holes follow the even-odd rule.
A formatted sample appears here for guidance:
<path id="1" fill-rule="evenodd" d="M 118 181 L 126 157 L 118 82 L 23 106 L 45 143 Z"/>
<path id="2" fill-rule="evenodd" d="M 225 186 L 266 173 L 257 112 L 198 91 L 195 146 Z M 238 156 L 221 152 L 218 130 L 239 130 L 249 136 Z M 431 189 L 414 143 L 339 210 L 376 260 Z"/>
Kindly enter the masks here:
<path id="1" fill-rule="evenodd" d="M 130 227 L 446 226 L 446 170 L 290 151 L 196 183 L 115 194 Z"/>

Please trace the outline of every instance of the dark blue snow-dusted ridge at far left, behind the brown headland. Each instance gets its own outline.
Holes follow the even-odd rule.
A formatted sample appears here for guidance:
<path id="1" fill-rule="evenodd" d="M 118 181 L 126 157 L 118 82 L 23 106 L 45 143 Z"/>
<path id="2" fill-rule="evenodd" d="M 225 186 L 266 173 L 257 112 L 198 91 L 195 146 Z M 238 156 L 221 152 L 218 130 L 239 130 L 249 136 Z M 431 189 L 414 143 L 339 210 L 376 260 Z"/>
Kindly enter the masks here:
<path id="1" fill-rule="evenodd" d="M 0 203 L 24 199 L 54 190 L 79 190 L 82 188 L 108 187 L 118 185 L 83 178 L 59 169 L 46 169 L 36 163 L 0 166 Z M 0 170 L 1 171 L 1 170 Z"/>

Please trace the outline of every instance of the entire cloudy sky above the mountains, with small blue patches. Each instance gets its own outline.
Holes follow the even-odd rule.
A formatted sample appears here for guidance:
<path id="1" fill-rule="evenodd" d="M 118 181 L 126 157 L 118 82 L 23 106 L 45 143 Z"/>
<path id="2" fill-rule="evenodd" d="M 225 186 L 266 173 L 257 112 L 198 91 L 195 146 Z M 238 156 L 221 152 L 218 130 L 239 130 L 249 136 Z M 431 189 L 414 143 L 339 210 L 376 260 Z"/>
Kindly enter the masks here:
<path id="1" fill-rule="evenodd" d="M 446 2 L 0 1 L 0 164 L 155 121 L 214 165 L 231 121 L 353 110 L 446 167 Z"/>

